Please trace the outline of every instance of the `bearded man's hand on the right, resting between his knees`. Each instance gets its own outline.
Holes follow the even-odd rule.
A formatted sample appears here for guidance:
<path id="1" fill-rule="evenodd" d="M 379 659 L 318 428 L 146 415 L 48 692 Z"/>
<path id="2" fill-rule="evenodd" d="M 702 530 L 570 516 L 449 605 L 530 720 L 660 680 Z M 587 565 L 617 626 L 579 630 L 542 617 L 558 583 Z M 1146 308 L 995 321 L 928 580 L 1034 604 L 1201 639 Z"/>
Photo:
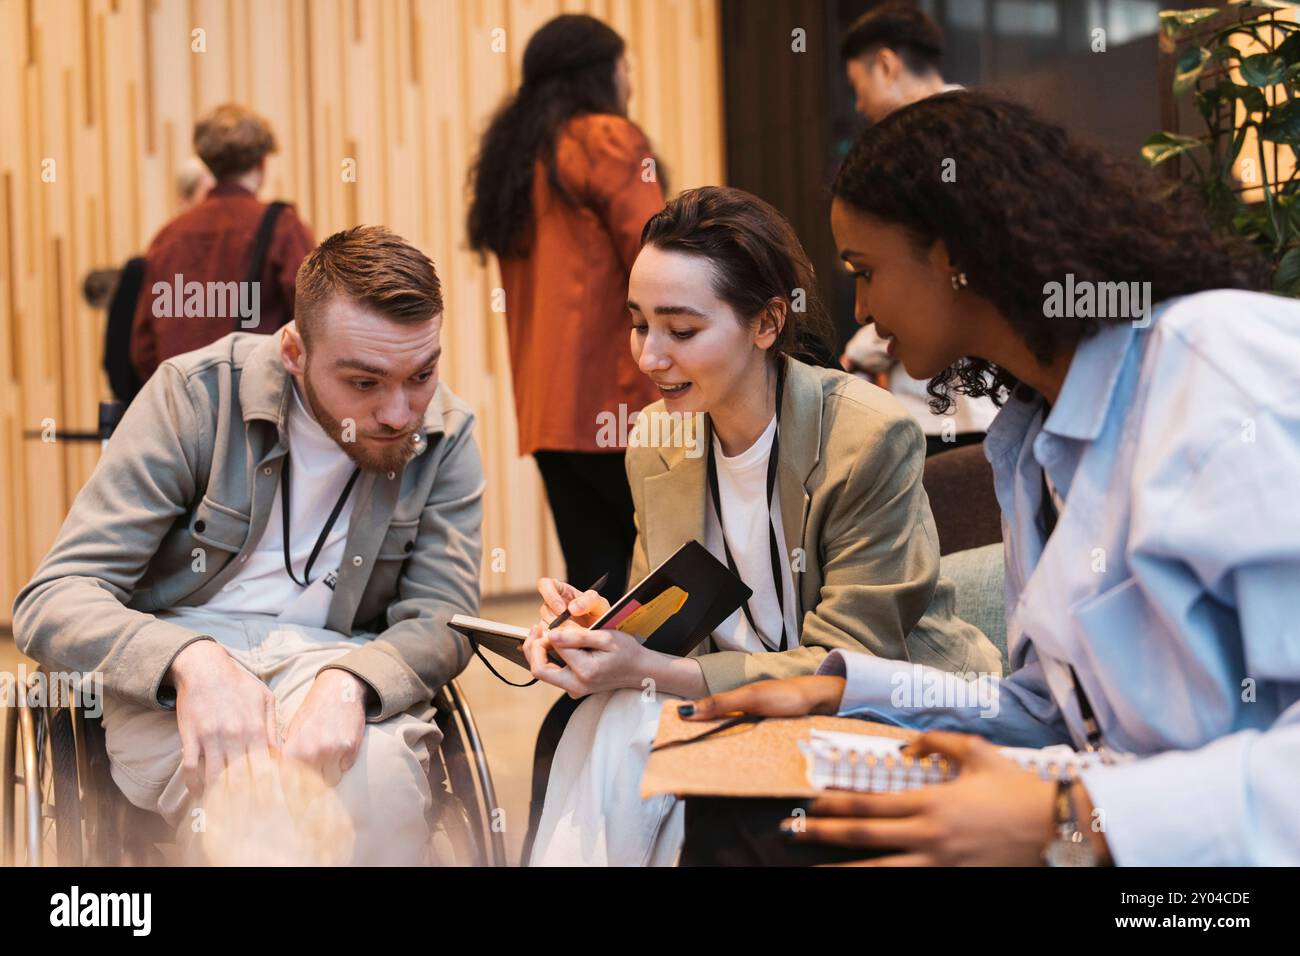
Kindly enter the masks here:
<path id="1" fill-rule="evenodd" d="M 316 675 L 307 700 L 285 732 L 286 757 L 312 767 L 335 786 L 354 763 L 365 734 L 364 680 L 339 667 Z"/>

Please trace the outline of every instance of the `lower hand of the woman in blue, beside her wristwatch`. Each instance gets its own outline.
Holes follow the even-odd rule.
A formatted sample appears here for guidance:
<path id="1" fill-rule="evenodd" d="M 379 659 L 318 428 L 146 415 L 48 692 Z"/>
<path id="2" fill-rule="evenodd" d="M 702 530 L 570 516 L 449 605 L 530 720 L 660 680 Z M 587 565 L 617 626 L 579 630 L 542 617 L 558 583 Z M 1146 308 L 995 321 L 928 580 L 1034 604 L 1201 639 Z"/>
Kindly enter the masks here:
<path id="1" fill-rule="evenodd" d="M 961 767 L 950 783 L 900 793 L 827 792 L 781 827 L 801 843 L 896 851 L 862 866 L 1037 866 L 1053 836 L 1056 784 L 983 737 L 931 731 L 904 750 Z"/>

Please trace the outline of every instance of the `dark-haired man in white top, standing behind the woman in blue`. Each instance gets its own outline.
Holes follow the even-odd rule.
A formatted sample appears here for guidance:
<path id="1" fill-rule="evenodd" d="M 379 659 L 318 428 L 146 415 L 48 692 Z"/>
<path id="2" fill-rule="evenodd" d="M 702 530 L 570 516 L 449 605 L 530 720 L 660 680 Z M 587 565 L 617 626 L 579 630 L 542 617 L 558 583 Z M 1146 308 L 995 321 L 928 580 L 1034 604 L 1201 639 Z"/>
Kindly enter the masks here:
<path id="1" fill-rule="evenodd" d="M 840 56 L 857 96 L 854 108 L 871 122 L 896 109 L 959 90 L 945 83 L 940 64 L 944 36 L 939 26 L 911 3 L 889 3 L 864 13 L 849 29 Z M 959 397 L 949 415 L 930 410 L 926 382 L 909 376 L 889 355 L 889 341 L 875 325 L 849 339 L 841 364 L 866 377 L 881 376 L 888 389 L 926 432 L 926 454 L 972 445 L 984 440 L 997 406 L 988 398 Z"/>

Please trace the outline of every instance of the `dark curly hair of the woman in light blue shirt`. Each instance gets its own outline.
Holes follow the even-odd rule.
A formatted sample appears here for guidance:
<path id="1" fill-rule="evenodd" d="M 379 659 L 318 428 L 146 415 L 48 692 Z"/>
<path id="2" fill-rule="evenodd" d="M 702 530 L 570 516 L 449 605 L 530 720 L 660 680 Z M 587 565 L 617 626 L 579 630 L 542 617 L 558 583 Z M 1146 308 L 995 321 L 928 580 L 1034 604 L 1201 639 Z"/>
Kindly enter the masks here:
<path id="1" fill-rule="evenodd" d="M 944 181 L 945 168 L 956 181 Z M 1108 321 L 1044 316 L 1046 284 L 1070 273 L 1075 282 L 1150 282 L 1152 303 L 1268 286 L 1258 252 L 1213 233 L 1193 199 L 1162 199 L 1164 183 L 1149 170 L 987 94 L 939 94 L 890 113 L 853 144 L 831 189 L 849 207 L 904 226 L 918 250 L 942 239 L 968 289 L 1044 364 Z M 944 412 L 953 393 L 1001 403 L 1015 385 L 1006 369 L 966 358 L 928 392 Z"/>

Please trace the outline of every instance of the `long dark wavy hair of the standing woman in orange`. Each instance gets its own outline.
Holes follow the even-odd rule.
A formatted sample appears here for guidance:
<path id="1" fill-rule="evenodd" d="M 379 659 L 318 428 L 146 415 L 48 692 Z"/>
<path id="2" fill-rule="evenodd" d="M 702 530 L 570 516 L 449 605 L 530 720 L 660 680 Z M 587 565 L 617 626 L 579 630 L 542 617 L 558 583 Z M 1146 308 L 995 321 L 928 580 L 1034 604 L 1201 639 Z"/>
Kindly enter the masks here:
<path id="1" fill-rule="evenodd" d="M 555 139 L 569 120 L 621 114 L 615 65 L 623 38 L 594 17 L 547 21 L 524 48 L 524 82 L 498 108 L 469 170 L 469 247 L 526 255 L 533 222 L 533 165 L 541 156 L 551 190 L 572 202 L 555 168 Z"/>

